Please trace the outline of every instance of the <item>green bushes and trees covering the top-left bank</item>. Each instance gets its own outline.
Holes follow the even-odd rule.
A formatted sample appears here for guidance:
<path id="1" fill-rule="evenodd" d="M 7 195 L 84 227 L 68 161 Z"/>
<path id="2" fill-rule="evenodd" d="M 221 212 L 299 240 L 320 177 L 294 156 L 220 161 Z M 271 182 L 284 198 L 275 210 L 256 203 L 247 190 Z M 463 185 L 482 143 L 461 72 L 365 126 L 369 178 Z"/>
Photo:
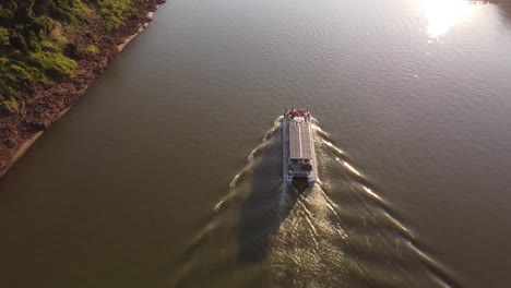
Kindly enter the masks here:
<path id="1" fill-rule="evenodd" d="M 72 76 L 78 64 L 66 35 L 103 20 L 117 29 L 146 0 L 2 0 L 0 2 L 0 108 L 15 112 L 20 92 Z M 71 38 L 71 37 L 70 37 Z M 97 55 L 96 35 L 81 52 Z M 72 47 L 72 45 L 71 45 Z M 74 46 L 74 48 L 76 48 Z M 29 99 L 25 104 L 33 103 Z"/>

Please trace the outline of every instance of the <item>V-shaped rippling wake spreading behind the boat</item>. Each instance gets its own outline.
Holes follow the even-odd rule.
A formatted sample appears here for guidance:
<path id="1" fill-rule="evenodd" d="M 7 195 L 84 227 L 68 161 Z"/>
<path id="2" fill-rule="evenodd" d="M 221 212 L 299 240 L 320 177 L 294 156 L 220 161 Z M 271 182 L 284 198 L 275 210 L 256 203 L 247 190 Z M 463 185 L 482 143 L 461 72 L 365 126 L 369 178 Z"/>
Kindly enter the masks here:
<path id="1" fill-rule="evenodd" d="M 317 120 L 317 184 L 284 183 L 281 121 L 212 206 L 164 287 L 455 286 Z"/>

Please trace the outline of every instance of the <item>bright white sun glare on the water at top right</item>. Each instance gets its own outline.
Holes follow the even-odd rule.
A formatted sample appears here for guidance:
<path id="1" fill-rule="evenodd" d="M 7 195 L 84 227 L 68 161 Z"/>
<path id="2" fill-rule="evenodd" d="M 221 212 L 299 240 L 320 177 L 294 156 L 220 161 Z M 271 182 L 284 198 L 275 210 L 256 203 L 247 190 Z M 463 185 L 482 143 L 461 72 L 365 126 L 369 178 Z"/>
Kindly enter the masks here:
<path id="1" fill-rule="evenodd" d="M 466 0 L 420 0 L 428 21 L 428 35 L 438 38 L 459 24 L 477 8 L 479 1 Z"/>

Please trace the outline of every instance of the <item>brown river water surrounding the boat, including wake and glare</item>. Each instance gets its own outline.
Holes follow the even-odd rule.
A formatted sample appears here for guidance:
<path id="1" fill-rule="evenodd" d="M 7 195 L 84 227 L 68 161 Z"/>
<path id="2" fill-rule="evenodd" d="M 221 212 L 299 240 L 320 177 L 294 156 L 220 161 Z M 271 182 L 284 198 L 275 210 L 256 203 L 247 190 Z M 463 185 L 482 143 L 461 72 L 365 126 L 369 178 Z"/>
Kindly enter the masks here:
<path id="1" fill-rule="evenodd" d="M 0 180 L 0 287 L 509 287 L 510 127 L 508 2 L 168 1 Z"/>

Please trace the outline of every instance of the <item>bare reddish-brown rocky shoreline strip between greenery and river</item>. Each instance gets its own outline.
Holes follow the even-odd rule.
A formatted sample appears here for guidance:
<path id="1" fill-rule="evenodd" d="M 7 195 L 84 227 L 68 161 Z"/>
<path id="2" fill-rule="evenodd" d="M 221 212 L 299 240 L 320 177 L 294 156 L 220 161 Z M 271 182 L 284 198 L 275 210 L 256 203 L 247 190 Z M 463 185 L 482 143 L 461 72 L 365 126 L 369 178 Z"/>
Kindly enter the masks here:
<path id="1" fill-rule="evenodd" d="M 50 87 L 35 87 L 31 105 L 22 104 L 15 113 L 0 110 L 0 178 L 40 137 L 50 124 L 60 119 L 88 85 L 99 76 L 122 49 L 151 22 L 154 11 L 165 0 L 151 0 L 139 3 L 136 13 L 130 16 L 122 27 L 107 29 L 99 21 L 91 21 L 86 27 L 67 35 L 73 47 L 87 47 L 94 39 L 94 53 L 76 55 L 78 68 L 73 75 L 56 82 Z"/>

